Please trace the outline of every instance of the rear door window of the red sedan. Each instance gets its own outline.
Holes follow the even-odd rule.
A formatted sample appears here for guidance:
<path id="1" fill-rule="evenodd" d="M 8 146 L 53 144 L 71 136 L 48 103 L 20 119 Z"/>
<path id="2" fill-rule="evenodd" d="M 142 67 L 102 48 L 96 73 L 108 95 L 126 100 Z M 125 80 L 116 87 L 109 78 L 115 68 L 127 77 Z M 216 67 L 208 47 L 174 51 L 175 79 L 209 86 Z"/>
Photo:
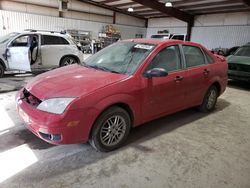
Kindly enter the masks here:
<path id="1" fill-rule="evenodd" d="M 187 67 L 206 64 L 205 57 L 199 47 L 183 45 Z"/>

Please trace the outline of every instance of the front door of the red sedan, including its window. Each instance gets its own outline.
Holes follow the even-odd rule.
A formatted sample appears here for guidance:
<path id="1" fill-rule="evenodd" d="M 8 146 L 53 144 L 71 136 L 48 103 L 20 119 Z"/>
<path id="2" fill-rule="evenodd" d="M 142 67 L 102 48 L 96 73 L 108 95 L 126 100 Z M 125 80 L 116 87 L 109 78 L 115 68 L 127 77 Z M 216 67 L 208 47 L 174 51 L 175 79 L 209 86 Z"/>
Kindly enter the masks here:
<path id="1" fill-rule="evenodd" d="M 186 70 L 178 45 L 162 49 L 152 60 L 147 70 L 162 68 L 166 77 L 145 78 L 143 116 L 151 120 L 185 108 Z M 146 71 L 147 71 L 146 70 Z"/>

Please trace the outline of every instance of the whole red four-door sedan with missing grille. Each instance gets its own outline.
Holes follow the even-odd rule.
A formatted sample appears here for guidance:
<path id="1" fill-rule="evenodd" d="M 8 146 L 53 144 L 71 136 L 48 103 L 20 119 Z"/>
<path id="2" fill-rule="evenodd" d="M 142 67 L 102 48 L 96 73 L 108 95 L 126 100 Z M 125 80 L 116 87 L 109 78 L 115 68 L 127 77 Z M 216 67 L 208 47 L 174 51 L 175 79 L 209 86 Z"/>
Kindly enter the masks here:
<path id="1" fill-rule="evenodd" d="M 52 144 L 120 147 L 132 127 L 190 107 L 209 112 L 227 85 L 227 63 L 191 42 L 117 42 L 82 64 L 35 77 L 17 94 L 27 128 Z"/>

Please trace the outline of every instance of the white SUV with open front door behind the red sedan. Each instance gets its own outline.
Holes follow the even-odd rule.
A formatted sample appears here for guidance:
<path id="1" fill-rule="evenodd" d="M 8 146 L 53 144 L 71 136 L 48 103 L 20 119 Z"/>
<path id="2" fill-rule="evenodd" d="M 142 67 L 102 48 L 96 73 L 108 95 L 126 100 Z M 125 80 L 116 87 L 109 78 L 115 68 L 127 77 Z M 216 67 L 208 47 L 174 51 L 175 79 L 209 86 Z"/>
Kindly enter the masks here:
<path id="1" fill-rule="evenodd" d="M 83 60 L 69 34 L 28 30 L 0 37 L 0 77 L 4 71 L 47 70 Z"/>

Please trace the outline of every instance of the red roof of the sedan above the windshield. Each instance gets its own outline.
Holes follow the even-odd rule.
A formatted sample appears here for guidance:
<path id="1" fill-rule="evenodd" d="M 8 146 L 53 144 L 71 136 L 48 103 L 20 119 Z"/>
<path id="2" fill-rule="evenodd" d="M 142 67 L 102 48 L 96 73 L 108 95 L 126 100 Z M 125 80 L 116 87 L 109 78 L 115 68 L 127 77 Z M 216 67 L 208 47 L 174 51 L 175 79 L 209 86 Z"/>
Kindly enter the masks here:
<path id="1" fill-rule="evenodd" d="M 144 44 L 154 44 L 154 45 L 163 45 L 163 44 L 186 44 L 186 45 L 193 45 L 193 46 L 201 46 L 198 43 L 190 42 L 190 41 L 183 41 L 183 40 L 159 40 L 159 39 L 146 39 L 146 38 L 140 38 L 140 39 L 127 39 L 123 41 L 128 42 L 136 42 L 136 43 L 144 43 Z"/>

